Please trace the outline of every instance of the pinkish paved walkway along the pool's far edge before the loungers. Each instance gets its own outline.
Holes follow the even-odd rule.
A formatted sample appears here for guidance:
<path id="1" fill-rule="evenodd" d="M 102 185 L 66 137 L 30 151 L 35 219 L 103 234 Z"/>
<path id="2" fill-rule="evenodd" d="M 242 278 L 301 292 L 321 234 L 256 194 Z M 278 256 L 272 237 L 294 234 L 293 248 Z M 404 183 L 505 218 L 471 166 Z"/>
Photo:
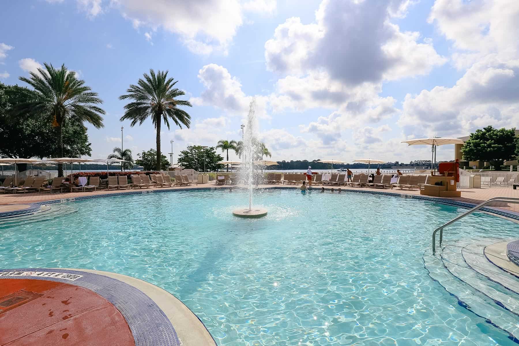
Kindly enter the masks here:
<path id="1" fill-rule="evenodd" d="M 285 186 L 285 187 L 292 187 L 292 188 L 298 188 L 296 185 L 260 185 L 260 187 L 275 187 L 275 186 Z M 161 190 L 161 189 L 185 189 L 185 188 L 192 188 L 192 189 L 200 189 L 200 188 L 208 188 L 208 187 L 216 187 L 214 183 L 211 184 L 198 184 L 193 185 L 190 187 L 164 187 L 164 188 L 151 188 L 152 190 Z M 313 187 L 313 188 L 321 188 L 321 186 Z M 337 187 L 334 187 L 337 189 Z M 325 187 L 325 189 L 331 189 L 330 187 Z M 383 192 L 393 192 L 393 193 L 401 193 L 404 195 L 419 195 L 419 190 L 399 190 L 399 189 L 374 189 L 374 188 L 357 188 L 357 187 L 344 187 L 342 186 L 341 189 L 344 190 L 376 190 L 376 191 L 383 191 Z M 143 191 L 145 189 L 142 189 Z M 454 200 L 468 202 L 468 203 L 474 203 L 478 204 L 481 203 L 489 198 L 492 197 L 515 197 L 519 198 L 519 190 L 514 190 L 510 187 L 487 187 L 487 188 L 481 188 L 481 189 L 471 189 L 471 188 L 461 188 L 459 189 L 461 191 L 461 197 L 452 198 Z M 30 193 L 17 193 L 16 195 L 13 194 L 4 194 L 0 195 L 0 205 L 3 204 L 26 204 L 26 203 L 34 203 L 34 202 L 43 202 L 48 200 L 54 200 L 54 199 L 63 199 L 63 198 L 72 198 L 72 197 L 81 197 L 86 195 L 102 195 L 106 193 L 120 193 L 125 191 L 137 191 L 135 189 L 129 189 L 129 190 L 110 190 L 107 191 L 99 190 L 99 191 L 92 191 L 92 192 L 63 192 L 63 193 L 48 193 L 48 192 L 30 192 Z M 508 204 L 508 203 L 494 203 L 490 204 L 490 206 L 494 207 L 500 207 L 509 211 L 517 212 L 519 213 L 519 204 Z M 13 208 L 16 208 L 15 206 L 12 206 Z M 8 211 L 9 207 L 4 206 L 2 211 Z"/>

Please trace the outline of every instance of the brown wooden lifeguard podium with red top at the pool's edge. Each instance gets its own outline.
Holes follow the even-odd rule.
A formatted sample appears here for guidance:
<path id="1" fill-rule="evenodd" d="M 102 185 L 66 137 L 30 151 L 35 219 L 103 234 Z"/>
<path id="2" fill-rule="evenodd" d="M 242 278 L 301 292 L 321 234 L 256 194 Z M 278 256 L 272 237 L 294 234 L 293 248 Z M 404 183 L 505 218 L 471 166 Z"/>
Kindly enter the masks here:
<path id="1" fill-rule="evenodd" d="M 427 177 L 427 184 L 420 189 L 420 195 L 433 197 L 461 197 L 457 189 L 459 173 L 457 162 L 440 163 L 439 172 L 431 172 Z"/>

